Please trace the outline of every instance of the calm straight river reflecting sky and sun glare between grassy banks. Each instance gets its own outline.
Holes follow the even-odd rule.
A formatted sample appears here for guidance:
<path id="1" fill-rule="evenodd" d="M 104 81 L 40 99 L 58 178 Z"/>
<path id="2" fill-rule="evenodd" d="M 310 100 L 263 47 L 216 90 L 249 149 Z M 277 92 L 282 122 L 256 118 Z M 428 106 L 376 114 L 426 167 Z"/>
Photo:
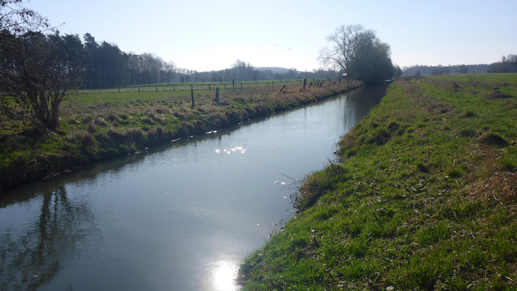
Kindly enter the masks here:
<path id="1" fill-rule="evenodd" d="M 183 138 L 0 197 L 0 290 L 236 290 L 242 257 L 292 217 L 292 179 L 386 86 Z"/>

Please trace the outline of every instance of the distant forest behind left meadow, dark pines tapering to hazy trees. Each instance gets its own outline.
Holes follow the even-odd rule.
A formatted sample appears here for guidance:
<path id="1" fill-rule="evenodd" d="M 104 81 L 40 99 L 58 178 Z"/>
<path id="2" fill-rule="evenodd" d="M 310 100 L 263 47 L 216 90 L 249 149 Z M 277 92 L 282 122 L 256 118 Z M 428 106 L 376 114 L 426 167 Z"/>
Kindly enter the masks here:
<path id="1" fill-rule="evenodd" d="M 49 34 L 47 41 L 57 44 L 74 58 L 74 71 L 79 72 L 83 88 L 114 88 L 135 84 L 169 82 L 232 82 L 282 79 L 320 79 L 337 77 L 334 70 L 299 72 L 295 68 L 257 68 L 236 60 L 229 69 L 197 72 L 177 67 L 174 61 L 165 61 L 154 53 L 126 53 L 116 44 L 98 43 L 89 33 L 81 39 L 78 34 Z"/>

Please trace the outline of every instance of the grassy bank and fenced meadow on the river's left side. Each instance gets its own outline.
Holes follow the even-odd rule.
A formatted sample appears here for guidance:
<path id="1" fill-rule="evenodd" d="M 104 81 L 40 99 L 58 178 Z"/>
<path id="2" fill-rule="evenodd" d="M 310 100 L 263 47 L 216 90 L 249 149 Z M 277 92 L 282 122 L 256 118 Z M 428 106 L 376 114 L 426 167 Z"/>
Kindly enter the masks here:
<path id="1" fill-rule="evenodd" d="M 285 83 L 285 82 L 284 82 Z M 275 87 L 195 91 L 99 93 L 70 96 L 60 108 L 58 131 L 0 116 L 0 193 L 19 183 L 53 176 L 83 164 L 138 153 L 157 143 L 205 134 L 251 117 L 314 103 L 350 88 L 339 82 L 301 89 Z"/>

